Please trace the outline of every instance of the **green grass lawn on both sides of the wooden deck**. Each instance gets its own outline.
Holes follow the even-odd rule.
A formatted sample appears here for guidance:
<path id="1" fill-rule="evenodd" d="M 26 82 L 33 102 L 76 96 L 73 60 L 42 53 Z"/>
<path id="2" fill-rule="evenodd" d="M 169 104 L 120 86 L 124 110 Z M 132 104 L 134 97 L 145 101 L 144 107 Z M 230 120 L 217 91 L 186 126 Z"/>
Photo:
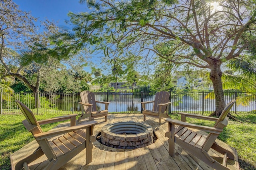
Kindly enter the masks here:
<path id="1" fill-rule="evenodd" d="M 58 116 L 57 114 L 35 115 L 38 120 Z M 178 114 L 171 115 L 180 119 Z M 220 134 L 219 139 L 238 151 L 241 169 L 256 169 L 256 114 L 243 114 L 241 122 L 230 120 L 228 126 Z M 22 124 L 23 115 L 0 115 L 0 170 L 10 169 L 10 154 L 30 143 L 34 138 Z M 213 122 L 187 119 L 190 123 L 213 126 Z M 58 125 L 42 125 L 43 131 L 48 131 Z"/>

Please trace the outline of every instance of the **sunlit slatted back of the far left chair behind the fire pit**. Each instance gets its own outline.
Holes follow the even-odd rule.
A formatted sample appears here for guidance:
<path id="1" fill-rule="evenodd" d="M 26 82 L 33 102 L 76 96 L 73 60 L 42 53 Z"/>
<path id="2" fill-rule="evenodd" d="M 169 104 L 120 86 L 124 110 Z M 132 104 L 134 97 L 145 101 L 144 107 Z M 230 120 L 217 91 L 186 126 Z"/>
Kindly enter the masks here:
<path id="1" fill-rule="evenodd" d="M 93 92 L 88 90 L 82 91 L 80 93 L 80 100 L 82 103 L 92 104 L 92 111 L 97 111 L 96 102 L 95 102 L 95 95 Z M 89 107 L 84 106 L 85 113 L 89 113 Z"/>

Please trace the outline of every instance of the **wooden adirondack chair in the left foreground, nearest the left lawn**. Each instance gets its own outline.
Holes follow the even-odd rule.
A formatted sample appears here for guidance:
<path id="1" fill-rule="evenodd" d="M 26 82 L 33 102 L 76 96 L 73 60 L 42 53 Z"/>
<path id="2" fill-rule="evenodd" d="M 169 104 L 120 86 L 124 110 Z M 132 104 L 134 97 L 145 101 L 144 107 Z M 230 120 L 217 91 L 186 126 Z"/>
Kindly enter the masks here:
<path id="1" fill-rule="evenodd" d="M 48 120 L 37 121 L 32 111 L 16 100 L 16 103 L 26 119 L 22 121 L 28 131 L 30 131 L 36 139 L 39 147 L 35 151 L 20 160 L 15 170 L 29 169 L 28 164 L 36 160 L 42 155 L 48 158 L 48 164 L 44 167 L 45 170 L 57 170 L 79 152 L 86 148 L 86 164 L 92 161 L 92 133 L 93 127 L 97 124 L 96 121 L 89 121 L 82 125 L 76 125 L 76 114 L 56 117 Z M 54 123 L 70 119 L 70 127 L 58 130 L 43 132 L 40 125 Z M 84 131 L 83 129 L 86 129 Z"/>

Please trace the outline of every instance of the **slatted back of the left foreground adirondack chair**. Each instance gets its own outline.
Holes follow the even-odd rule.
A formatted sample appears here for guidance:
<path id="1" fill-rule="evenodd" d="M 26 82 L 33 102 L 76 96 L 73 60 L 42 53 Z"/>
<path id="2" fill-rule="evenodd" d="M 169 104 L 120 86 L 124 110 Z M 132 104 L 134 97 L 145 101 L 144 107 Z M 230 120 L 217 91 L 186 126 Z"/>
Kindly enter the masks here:
<path id="1" fill-rule="evenodd" d="M 42 133 L 42 129 L 38 123 L 38 121 L 36 120 L 36 117 L 34 116 L 34 114 L 32 113 L 32 111 L 23 103 L 21 103 L 20 101 L 16 100 L 16 104 L 18 105 L 18 107 L 20 108 L 20 110 L 22 111 L 23 115 L 26 117 L 28 123 L 30 125 L 34 125 L 38 127 L 37 133 Z M 35 131 L 34 131 L 35 132 Z M 35 133 L 33 133 L 35 134 Z"/>

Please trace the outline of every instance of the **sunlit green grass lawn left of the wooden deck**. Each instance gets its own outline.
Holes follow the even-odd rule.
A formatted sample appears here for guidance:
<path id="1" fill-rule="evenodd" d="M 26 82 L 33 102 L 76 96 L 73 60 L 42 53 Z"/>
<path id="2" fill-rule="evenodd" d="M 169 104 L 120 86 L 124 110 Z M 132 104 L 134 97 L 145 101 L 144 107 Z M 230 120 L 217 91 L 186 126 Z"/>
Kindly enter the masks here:
<path id="1" fill-rule="evenodd" d="M 35 115 L 37 120 L 50 119 L 57 116 L 59 114 Z M 34 140 L 32 134 L 22 124 L 24 119 L 25 117 L 22 114 L 0 115 L 0 170 L 10 170 L 10 154 Z M 41 125 L 41 127 L 43 131 L 48 131 L 59 123 Z"/>

